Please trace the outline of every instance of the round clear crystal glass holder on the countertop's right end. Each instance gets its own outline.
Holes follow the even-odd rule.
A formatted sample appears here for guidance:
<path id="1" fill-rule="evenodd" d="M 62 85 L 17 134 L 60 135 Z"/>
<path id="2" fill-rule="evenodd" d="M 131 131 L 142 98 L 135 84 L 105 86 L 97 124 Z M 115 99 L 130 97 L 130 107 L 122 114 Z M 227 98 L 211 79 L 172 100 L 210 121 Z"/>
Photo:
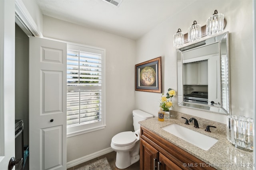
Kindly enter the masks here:
<path id="1" fill-rule="evenodd" d="M 227 138 L 235 147 L 253 151 L 254 121 L 251 118 L 229 115 L 227 118 Z"/>

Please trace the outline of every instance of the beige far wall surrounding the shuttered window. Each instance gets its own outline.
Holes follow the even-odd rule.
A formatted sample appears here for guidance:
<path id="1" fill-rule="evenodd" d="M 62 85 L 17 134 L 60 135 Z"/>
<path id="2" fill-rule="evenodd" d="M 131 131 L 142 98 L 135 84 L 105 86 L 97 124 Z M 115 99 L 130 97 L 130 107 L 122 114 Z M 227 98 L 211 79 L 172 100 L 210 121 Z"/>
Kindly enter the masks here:
<path id="1" fill-rule="evenodd" d="M 67 162 L 110 147 L 114 135 L 131 131 L 135 41 L 44 16 L 44 37 L 106 49 L 106 128 L 67 139 Z"/>

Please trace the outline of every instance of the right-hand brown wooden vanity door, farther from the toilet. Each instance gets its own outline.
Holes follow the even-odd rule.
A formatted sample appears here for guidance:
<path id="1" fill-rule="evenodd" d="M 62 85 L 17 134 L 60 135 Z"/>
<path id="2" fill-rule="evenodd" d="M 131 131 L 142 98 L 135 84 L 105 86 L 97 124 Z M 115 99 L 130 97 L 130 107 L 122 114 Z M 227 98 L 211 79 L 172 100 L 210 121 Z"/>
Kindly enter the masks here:
<path id="1" fill-rule="evenodd" d="M 162 153 L 159 153 L 158 166 L 158 170 L 182 170 L 182 168 L 172 162 L 172 160 L 166 158 Z"/>

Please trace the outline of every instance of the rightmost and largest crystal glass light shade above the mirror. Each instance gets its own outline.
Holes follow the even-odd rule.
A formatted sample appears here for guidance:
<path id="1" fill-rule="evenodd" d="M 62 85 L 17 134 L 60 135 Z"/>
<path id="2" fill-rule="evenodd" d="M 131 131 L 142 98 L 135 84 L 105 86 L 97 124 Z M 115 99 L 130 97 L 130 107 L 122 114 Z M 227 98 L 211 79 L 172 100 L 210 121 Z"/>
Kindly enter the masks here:
<path id="1" fill-rule="evenodd" d="M 214 14 L 206 21 L 206 35 L 216 35 L 224 29 L 224 15 L 218 14 L 215 10 Z"/>

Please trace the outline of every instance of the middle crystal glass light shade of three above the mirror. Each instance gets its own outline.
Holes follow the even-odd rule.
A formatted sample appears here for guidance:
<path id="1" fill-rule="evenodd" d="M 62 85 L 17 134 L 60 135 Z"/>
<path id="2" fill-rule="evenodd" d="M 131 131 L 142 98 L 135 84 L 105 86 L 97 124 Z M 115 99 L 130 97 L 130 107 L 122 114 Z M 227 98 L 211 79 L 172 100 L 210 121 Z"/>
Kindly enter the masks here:
<path id="1" fill-rule="evenodd" d="M 201 39 L 201 25 L 194 21 L 193 25 L 188 28 L 188 42 L 193 42 Z"/>

